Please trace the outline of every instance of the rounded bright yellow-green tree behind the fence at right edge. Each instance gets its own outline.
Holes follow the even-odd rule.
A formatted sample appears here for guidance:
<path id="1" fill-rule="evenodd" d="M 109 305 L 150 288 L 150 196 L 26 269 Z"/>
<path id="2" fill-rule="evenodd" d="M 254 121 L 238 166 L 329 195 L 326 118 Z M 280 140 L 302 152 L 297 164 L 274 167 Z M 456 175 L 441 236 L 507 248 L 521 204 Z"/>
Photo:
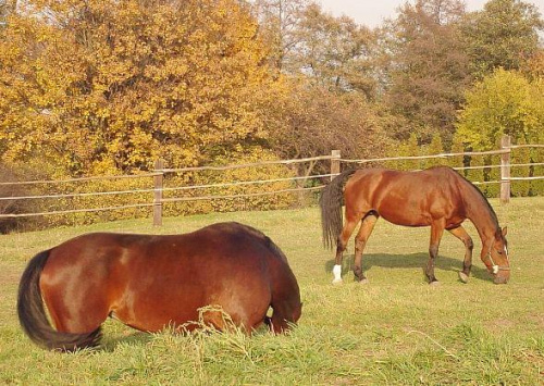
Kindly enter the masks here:
<path id="1" fill-rule="evenodd" d="M 529 83 L 520 73 L 497 70 L 467 91 L 456 135 L 474 150 L 491 150 L 502 135 L 514 142 L 544 140 L 544 88 Z"/>

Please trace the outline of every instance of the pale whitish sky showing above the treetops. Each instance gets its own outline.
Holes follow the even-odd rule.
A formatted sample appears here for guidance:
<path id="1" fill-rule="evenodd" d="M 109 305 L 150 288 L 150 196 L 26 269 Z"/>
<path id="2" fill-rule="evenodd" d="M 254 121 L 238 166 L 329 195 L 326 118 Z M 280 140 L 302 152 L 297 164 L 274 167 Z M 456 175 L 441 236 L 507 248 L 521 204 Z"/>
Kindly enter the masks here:
<path id="1" fill-rule="evenodd" d="M 403 5 L 407 0 L 316 0 L 321 2 L 324 11 L 334 16 L 347 15 L 357 23 L 368 27 L 376 27 L 382 24 L 384 18 L 394 18 L 396 9 Z M 544 0 L 523 0 L 535 4 L 541 15 L 544 17 Z M 413 0 L 410 1 L 413 3 Z M 465 0 L 468 11 L 479 11 L 483 9 L 486 0 Z"/>

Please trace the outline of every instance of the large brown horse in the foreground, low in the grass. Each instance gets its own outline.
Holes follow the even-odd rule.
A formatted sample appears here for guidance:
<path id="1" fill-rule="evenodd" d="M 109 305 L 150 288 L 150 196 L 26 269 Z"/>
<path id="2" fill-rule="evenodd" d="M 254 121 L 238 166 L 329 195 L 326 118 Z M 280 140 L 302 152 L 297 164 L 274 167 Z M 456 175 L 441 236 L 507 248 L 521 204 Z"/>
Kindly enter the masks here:
<path id="1" fill-rule="evenodd" d="M 301 313 L 298 284 L 283 252 L 261 232 L 238 223 L 184 235 L 95 233 L 70 239 L 30 260 L 17 311 L 36 344 L 74 350 L 98 345 L 108 316 L 145 332 L 172 325 L 191 331 L 198 310 L 209 304 L 247 333 L 262 322 L 282 333 Z M 220 310 L 202 319 L 227 327 Z"/>

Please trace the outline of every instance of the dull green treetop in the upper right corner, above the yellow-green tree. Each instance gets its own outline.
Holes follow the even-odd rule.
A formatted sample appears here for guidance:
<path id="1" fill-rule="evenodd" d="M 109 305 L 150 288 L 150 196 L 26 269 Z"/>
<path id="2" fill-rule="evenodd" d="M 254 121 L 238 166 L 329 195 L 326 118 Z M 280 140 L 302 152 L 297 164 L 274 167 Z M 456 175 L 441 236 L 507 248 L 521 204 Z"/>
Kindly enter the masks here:
<path id="1" fill-rule="evenodd" d="M 537 52 L 544 21 L 534 4 L 490 0 L 467 15 L 461 29 L 471 72 L 481 78 L 498 67 L 519 70 Z"/>

